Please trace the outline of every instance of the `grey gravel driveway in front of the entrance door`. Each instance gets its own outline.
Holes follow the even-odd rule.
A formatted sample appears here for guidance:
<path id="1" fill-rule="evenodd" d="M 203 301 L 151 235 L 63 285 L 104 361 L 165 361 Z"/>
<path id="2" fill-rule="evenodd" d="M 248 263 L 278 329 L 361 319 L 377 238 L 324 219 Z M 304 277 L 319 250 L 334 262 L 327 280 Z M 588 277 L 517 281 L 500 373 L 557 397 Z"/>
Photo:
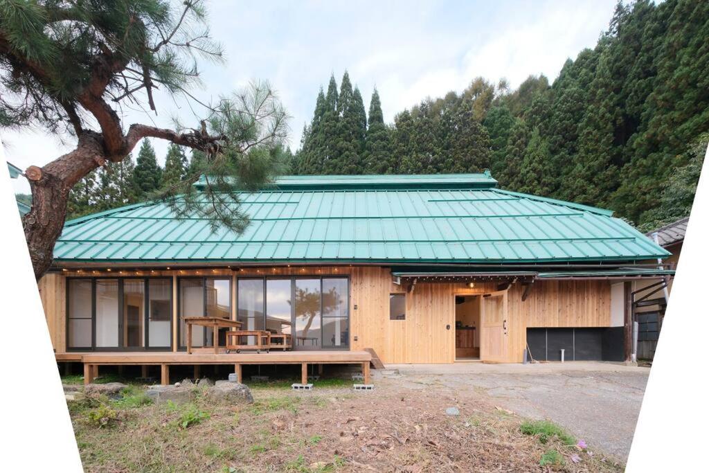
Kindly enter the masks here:
<path id="1" fill-rule="evenodd" d="M 388 365 L 409 388 L 488 396 L 496 406 L 530 418 L 547 418 L 577 438 L 624 462 L 649 369 L 600 362 L 540 365 Z M 376 373 L 376 370 L 374 371 Z M 389 384 L 387 372 L 376 374 Z"/>

